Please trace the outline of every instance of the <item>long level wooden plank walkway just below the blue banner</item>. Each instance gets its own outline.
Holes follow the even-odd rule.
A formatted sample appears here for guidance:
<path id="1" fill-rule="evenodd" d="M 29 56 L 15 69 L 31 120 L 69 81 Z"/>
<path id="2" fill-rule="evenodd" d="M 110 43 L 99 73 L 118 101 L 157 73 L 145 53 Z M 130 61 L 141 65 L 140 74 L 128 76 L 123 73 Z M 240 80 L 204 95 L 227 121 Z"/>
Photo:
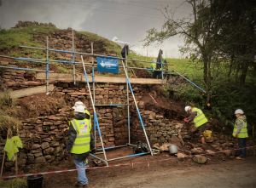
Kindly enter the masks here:
<path id="1" fill-rule="evenodd" d="M 45 80 L 45 73 L 38 73 L 38 80 Z M 91 76 L 88 76 L 89 82 L 92 82 Z M 72 83 L 73 75 L 72 74 L 61 74 L 61 73 L 50 73 L 49 81 L 59 81 L 64 83 Z M 162 84 L 162 80 L 160 79 L 150 79 L 150 78 L 130 78 L 131 83 L 136 84 Z M 76 82 L 85 82 L 83 74 L 76 74 Z M 95 77 L 96 83 L 126 83 L 125 77 L 104 77 L 98 76 Z"/>

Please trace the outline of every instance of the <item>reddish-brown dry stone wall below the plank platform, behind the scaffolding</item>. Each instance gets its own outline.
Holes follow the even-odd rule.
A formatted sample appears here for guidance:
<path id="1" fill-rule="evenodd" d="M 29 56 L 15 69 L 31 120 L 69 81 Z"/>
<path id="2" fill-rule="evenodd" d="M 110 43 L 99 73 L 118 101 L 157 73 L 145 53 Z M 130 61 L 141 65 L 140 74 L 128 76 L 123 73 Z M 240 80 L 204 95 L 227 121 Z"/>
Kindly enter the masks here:
<path id="1" fill-rule="evenodd" d="M 181 124 L 164 117 L 159 110 L 146 111 L 143 97 L 148 95 L 149 88 L 142 85 L 134 87 L 134 93 L 142 112 L 148 139 L 153 145 L 156 142 L 165 142 L 178 135 Z M 19 165 L 23 169 L 40 168 L 45 163 L 55 164 L 67 157 L 65 153 L 68 132 L 68 120 L 72 118 L 71 107 L 74 102 L 81 100 L 87 106 L 92 115 L 90 96 L 84 83 L 56 83 L 52 93 L 62 96 L 67 107 L 61 108 L 56 114 L 26 119 L 20 128 L 20 138 L 25 148 L 20 151 Z M 138 121 L 137 111 L 130 94 L 131 109 L 131 141 L 145 141 L 143 129 Z M 124 145 L 128 142 L 127 107 L 108 106 L 108 104 L 126 104 L 125 84 L 96 83 L 96 111 L 100 123 L 102 140 L 104 145 Z M 93 119 L 93 117 L 92 117 Z M 0 133 L 1 135 L 1 133 Z M 96 132 L 96 145 L 100 145 L 99 136 Z M 2 134 L 2 137 L 3 134 Z M 1 143 L 5 143 L 2 138 Z M 0 145 L 3 151 L 3 144 Z M 2 153 L 3 155 L 3 153 Z M 13 162 L 6 162 L 6 167 L 12 167 Z"/>

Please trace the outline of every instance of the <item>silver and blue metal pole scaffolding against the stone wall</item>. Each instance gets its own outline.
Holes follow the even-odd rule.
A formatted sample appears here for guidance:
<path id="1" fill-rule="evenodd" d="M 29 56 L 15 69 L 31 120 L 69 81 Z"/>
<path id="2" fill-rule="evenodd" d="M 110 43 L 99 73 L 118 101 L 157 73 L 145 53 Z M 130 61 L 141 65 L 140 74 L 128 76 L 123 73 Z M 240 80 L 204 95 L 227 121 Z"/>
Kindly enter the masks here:
<path id="1" fill-rule="evenodd" d="M 91 43 L 91 53 L 83 53 L 83 52 L 76 52 L 75 51 L 75 46 L 74 46 L 74 33 L 72 33 L 72 50 L 62 50 L 62 49 L 55 49 L 55 48 L 49 48 L 49 37 L 46 37 L 46 47 L 45 48 L 38 48 L 38 47 L 30 47 L 30 46 L 20 46 L 20 48 L 32 48 L 32 49 L 39 49 L 39 50 L 44 50 L 46 52 L 46 59 L 33 59 L 33 58 L 16 58 L 16 57 L 10 57 L 7 55 L 0 55 L 0 57 L 3 58 L 9 58 L 9 59 L 13 59 L 13 60 L 22 60 L 22 61 L 26 61 L 29 63 L 36 63 L 36 64 L 45 64 L 45 71 L 44 70 L 38 70 L 38 69 L 30 69 L 30 68 L 22 68 L 22 67 L 16 67 L 16 66 L 0 66 L 0 68 L 4 68 L 4 69 L 15 69 L 15 70 L 23 70 L 23 71 L 41 71 L 41 72 L 45 72 L 45 77 L 46 77 L 46 94 L 49 93 L 49 73 L 52 73 L 53 71 L 49 71 L 50 70 L 50 64 L 51 63 L 61 63 L 61 64 L 66 64 L 66 65 L 71 65 L 73 66 L 73 83 L 76 84 L 76 66 L 83 66 L 83 70 L 84 70 L 84 78 L 86 81 L 86 85 L 87 88 L 89 90 L 90 93 L 90 102 L 93 108 L 93 114 L 94 114 L 94 120 L 93 120 L 93 128 L 94 128 L 94 134 L 95 134 L 95 140 L 96 140 L 96 130 L 98 132 L 98 136 L 100 138 L 100 142 L 102 145 L 102 148 L 96 148 L 96 154 L 98 153 L 103 153 L 104 158 L 102 157 L 98 157 L 96 156 L 96 154 L 90 154 L 92 157 L 95 157 L 99 160 L 101 160 L 102 162 L 105 162 L 106 165 L 108 166 L 108 162 L 113 161 L 113 160 L 118 160 L 118 159 L 123 159 L 123 158 L 127 158 L 127 157 L 137 157 L 137 156 L 142 156 L 142 155 L 146 155 L 146 154 L 151 154 L 153 155 L 153 151 L 151 149 L 151 146 L 149 144 L 149 140 L 148 140 L 148 135 L 146 133 L 146 129 L 145 129 L 145 125 L 143 123 L 143 117 L 141 116 L 141 113 L 139 111 L 139 108 L 137 106 L 137 100 L 135 98 L 135 95 L 133 93 L 133 88 L 131 86 L 131 82 L 130 82 L 130 78 L 129 78 L 129 70 L 134 70 L 134 69 L 142 69 L 142 70 L 146 70 L 146 71 L 152 71 L 151 68 L 143 68 L 143 67 L 131 67 L 128 66 L 128 60 L 131 61 L 140 61 L 140 62 L 144 62 L 144 63 L 152 63 L 151 61 L 146 61 L 146 60 L 132 60 L 132 59 L 128 59 L 127 58 L 127 52 L 125 53 L 125 58 L 120 58 L 120 57 L 115 57 L 117 58 L 120 62 L 121 62 L 121 66 L 119 66 L 120 68 L 124 69 L 125 71 L 125 78 L 126 78 L 126 95 L 127 95 L 127 102 L 126 104 L 108 104 L 108 105 L 96 105 L 96 93 L 95 93 L 95 87 L 96 87 L 96 82 L 95 82 L 95 57 L 105 57 L 105 58 L 113 58 L 113 56 L 107 56 L 107 55 L 102 55 L 102 54 L 94 54 L 94 48 L 93 48 L 93 43 Z M 49 60 L 49 52 L 56 52 L 56 53 L 66 53 L 66 54 L 72 54 L 72 60 Z M 81 57 L 81 61 L 75 61 L 75 57 L 76 54 L 80 55 Z M 91 57 L 91 63 L 84 63 L 84 58 L 83 56 L 90 56 Z M 90 66 L 91 70 L 92 70 L 92 92 L 90 89 L 90 83 L 89 83 L 89 79 L 87 76 L 87 72 L 86 72 L 86 66 Z M 172 71 L 164 71 L 163 70 L 163 66 L 161 64 L 161 79 L 164 83 L 164 73 L 168 74 Z M 183 77 L 179 72 L 175 71 L 179 76 Z M 196 88 L 200 89 L 202 92 L 205 93 L 205 90 L 202 89 L 201 87 L 197 86 L 195 83 L 191 82 L 188 78 L 183 77 L 185 80 L 187 80 L 189 83 L 193 84 Z M 130 119 L 130 95 L 129 95 L 129 90 L 131 92 L 131 96 L 132 99 L 136 105 L 136 110 L 137 110 L 137 115 L 139 117 L 139 121 L 140 124 L 143 128 L 143 134 L 147 140 L 147 145 L 148 145 L 148 149 L 149 151 L 147 152 L 141 152 L 141 153 L 137 153 L 137 154 L 131 154 L 131 155 L 127 155 L 124 157 L 116 157 L 116 158 L 110 158 L 108 159 L 106 151 L 111 150 L 111 149 L 115 149 L 115 148 L 120 148 L 120 147 L 125 147 L 125 146 L 132 146 L 135 147 L 137 145 L 133 145 L 131 144 L 131 119 Z M 118 107 L 118 106 L 126 106 L 127 107 L 127 128 L 128 128 L 128 140 L 127 143 L 125 145 L 115 145 L 115 146 L 110 146 L 110 147 L 105 147 L 103 140 L 102 140 L 102 133 L 101 133 L 101 128 L 100 128 L 100 124 L 98 122 L 98 118 L 97 118 L 97 114 L 96 114 L 96 107 L 98 106 L 111 106 L 111 107 Z"/>

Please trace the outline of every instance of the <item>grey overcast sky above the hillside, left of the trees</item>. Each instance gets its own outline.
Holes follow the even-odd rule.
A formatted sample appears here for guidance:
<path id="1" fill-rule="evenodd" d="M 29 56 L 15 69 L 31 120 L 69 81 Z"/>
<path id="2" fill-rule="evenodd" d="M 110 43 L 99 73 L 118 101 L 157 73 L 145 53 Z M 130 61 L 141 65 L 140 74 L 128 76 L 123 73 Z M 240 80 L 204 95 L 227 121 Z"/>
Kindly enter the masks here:
<path id="1" fill-rule="evenodd" d="M 177 17 L 189 16 L 189 5 L 183 0 L 0 0 L 0 26 L 10 28 L 18 20 L 51 22 L 66 29 L 90 31 L 102 37 L 131 43 L 138 54 L 147 54 L 141 42 L 146 31 L 160 29 L 164 17 L 160 13 L 168 4 Z M 160 46 L 148 48 L 149 56 L 156 56 L 159 48 L 166 57 L 181 57 L 178 47 L 181 37 L 173 37 Z"/>

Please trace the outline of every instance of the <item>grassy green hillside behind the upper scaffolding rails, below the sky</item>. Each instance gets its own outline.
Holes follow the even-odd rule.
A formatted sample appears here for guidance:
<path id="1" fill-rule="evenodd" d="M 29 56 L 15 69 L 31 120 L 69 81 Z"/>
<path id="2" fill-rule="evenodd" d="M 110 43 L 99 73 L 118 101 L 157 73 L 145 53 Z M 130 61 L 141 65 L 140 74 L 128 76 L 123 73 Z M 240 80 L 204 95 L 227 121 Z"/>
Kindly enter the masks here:
<path id="1" fill-rule="evenodd" d="M 19 48 L 20 45 L 42 47 L 46 46 L 45 37 L 50 36 L 53 33 L 61 32 L 65 30 L 58 29 L 52 24 L 41 24 L 37 22 L 19 22 L 15 27 L 8 30 L 0 30 L 0 54 L 10 55 L 14 57 L 31 57 L 45 59 L 45 52 L 42 50 L 32 48 Z M 38 37 L 40 40 L 38 40 Z M 63 33 L 63 37 L 65 34 Z M 107 38 L 96 35 L 89 31 L 76 31 L 76 37 L 82 37 L 90 42 L 101 42 L 106 45 L 108 52 L 120 55 L 121 48 L 117 43 L 113 43 Z M 51 38 L 49 40 L 52 40 Z M 67 40 L 70 40 L 67 39 Z M 76 38 L 75 40 L 79 40 Z M 70 42 L 70 41 L 69 41 Z M 89 47 L 90 48 L 90 47 Z M 51 55 L 52 53 L 50 53 Z M 147 60 L 152 61 L 155 57 L 145 57 L 134 52 L 131 52 L 128 56 L 135 60 Z M 50 56 L 51 59 L 55 59 L 54 55 Z M 69 58 L 70 59 L 70 58 Z M 197 73 L 201 74 L 201 70 L 193 71 L 194 65 L 189 60 L 167 59 L 170 66 L 169 69 L 180 71 L 188 77 L 196 77 Z M 17 61 L 22 62 L 22 61 Z M 149 63 L 145 62 L 129 62 L 130 66 L 149 67 Z M 35 65 L 33 65 L 35 66 Z M 68 72 L 67 67 L 63 65 L 56 66 L 58 71 Z"/>

